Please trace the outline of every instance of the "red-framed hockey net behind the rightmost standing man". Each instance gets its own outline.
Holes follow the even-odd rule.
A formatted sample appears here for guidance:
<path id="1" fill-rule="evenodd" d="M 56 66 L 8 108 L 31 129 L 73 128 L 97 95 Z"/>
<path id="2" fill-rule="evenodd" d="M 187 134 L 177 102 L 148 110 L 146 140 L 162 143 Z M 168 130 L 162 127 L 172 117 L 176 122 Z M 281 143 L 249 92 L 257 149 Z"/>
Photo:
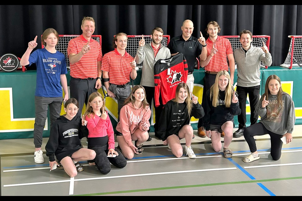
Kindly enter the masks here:
<path id="1" fill-rule="evenodd" d="M 233 52 L 234 50 L 241 48 L 241 42 L 240 42 L 240 36 L 239 35 L 221 35 L 223 38 L 229 39 L 232 45 Z M 271 41 L 271 36 L 270 35 L 253 35 L 253 40 L 252 40 L 252 45 L 254 47 L 262 47 L 264 42 L 267 46 L 267 49 L 270 50 L 270 41 Z M 235 65 L 237 65 L 235 63 Z M 264 63 L 260 63 L 261 68 L 267 68 Z"/>

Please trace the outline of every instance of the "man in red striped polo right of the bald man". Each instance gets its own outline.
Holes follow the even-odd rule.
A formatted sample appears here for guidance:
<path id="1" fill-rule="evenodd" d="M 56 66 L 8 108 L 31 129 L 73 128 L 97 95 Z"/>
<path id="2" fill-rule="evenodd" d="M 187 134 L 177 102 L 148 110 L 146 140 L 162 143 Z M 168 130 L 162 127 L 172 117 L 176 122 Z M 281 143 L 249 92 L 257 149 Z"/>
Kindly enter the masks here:
<path id="1" fill-rule="evenodd" d="M 229 81 L 231 84 L 234 81 L 235 60 L 232 46 L 228 39 L 217 35 L 220 33 L 220 30 L 219 24 L 215 21 L 210 21 L 206 28 L 207 35 L 209 35 L 209 38 L 206 40 L 208 57 L 205 61 L 200 60 L 200 66 L 204 67 L 205 70 L 202 105 L 204 104 L 206 91 L 215 83 L 217 73 L 221 70 L 229 70 L 226 57 L 229 60 L 230 66 L 231 80 Z M 206 137 L 202 118 L 198 121 L 198 135 Z M 221 133 L 221 137 L 224 137 L 224 133 Z"/>

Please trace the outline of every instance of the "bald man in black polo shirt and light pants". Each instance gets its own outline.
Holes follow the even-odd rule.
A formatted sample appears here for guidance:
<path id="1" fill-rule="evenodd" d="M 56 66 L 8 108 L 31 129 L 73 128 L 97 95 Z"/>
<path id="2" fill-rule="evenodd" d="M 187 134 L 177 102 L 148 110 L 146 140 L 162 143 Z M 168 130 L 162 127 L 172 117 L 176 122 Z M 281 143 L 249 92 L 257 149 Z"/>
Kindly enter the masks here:
<path id="1" fill-rule="evenodd" d="M 176 36 L 171 39 L 168 44 L 171 56 L 177 54 L 178 52 L 183 53 L 187 59 L 188 64 L 188 78 L 187 85 L 191 92 L 193 92 L 194 87 L 194 76 L 193 71 L 195 67 L 196 57 L 201 60 L 206 60 L 207 58 L 207 48 L 205 43 L 205 38 L 200 32 L 199 39 L 192 36 L 194 30 L 193 22 L 186 19 L 182 23 L 182 35 Z"/>

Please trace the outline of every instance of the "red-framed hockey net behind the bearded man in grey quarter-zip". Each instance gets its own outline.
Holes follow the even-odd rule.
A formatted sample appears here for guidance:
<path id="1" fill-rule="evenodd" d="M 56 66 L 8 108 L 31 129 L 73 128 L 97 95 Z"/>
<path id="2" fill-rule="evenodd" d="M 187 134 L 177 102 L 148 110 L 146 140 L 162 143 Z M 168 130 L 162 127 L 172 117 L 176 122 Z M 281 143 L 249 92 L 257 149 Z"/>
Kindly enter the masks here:
<path id="1" fill-rule="evenodd" d="M 137 48 L 138 48 L 138 43 L 142 39 L 142 35 L 128 35 L 128 41 L 127 41 L 127 47 L 126 51 L 131 55 L 131 57 L 135 57 Z M 150 35 L 144 35 L 145 39 L 145 44 L 149 44 L 152 39 Z M 170 42 L 170 35 L 163 35 L 163 40 L 161 41 L 161 44 L 163 46 L 168 46 L 168 43 Z M 136 65 L 138 68 L 143 67 L 143 63 L 137 64 Z"/>

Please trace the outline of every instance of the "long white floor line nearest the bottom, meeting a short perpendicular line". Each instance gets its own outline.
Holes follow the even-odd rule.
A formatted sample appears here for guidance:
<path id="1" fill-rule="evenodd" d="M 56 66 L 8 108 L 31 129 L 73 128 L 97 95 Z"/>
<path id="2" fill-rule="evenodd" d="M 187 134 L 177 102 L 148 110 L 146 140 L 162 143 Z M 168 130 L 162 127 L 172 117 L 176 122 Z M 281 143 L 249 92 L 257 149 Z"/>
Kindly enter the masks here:
<path id="1" fill-rule="evenodd" d="M 230 167 L 230 168 L 215 168 L 215 169 L 204 169 L 204 170 L 155 172 L 155 173 L 136 174 L 136 175 L 121 175 L 121 176 L 112 176 L 112 177 L 93 177 L 93 178 L 86 178 L 86 179 L 75 179 L 74 181 L 76 182 L 76 181 L 89 181 L 89 180 L 99 180 L 99 179 L 142 177 L 142 176 L 151 176 L 151 175 L 179 174 L 179 173 L 188 173 L 188 172 L 204 172 L 204 171 L 219 171 L 219 170 L 236 170 L 236 169 L 237 169 L 236 167 Z M 8 185 L 3 185 L 3 187 L 27 186 L 27 185 L 35 185 L 35 184 L 48 184 L 48 183 L 60 183 L 60 182 L 70 182 L 70 180 L 55 181 L 55 182 L 34 182 L 34 183 L 23 183 L 23 184 L 8 184 Z"/>

